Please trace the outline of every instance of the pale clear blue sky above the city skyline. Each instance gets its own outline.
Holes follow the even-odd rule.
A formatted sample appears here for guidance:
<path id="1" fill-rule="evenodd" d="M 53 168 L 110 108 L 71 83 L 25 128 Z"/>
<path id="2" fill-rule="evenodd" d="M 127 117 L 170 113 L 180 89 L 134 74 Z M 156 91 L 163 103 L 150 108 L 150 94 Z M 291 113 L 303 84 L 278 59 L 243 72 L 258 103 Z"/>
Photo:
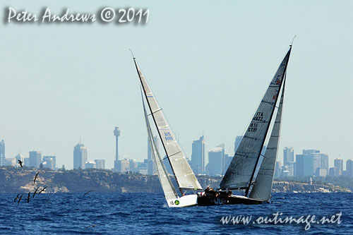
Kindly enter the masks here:
<path id="1" fill-rule="evenodd" d="M 353 1 L 1 1 L 0 139 L 6 157 L 37 150 L 73 167 L 73 147 L 114 167 L 147 158 L 133 53 L 191 157 L 205 136 L 232 154 L 294 40 L 287 68 L 283 147 L 353 159 Z M 41 16 L 104 7 L 148 8 L 148 23 L 15 23 L 8 7 Z M 39 20 L 40 21 L 40 20 Z M 344 164 L 345 165 L 345 164 Z"/>

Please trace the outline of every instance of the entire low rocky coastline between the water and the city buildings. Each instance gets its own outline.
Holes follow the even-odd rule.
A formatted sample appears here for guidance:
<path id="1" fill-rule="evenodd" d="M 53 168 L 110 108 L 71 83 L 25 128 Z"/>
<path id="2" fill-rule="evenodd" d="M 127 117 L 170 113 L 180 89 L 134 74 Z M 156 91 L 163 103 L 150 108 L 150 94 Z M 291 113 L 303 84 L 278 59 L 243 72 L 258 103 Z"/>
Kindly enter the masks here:
<path id="1" fill-rule="evenodd" d="M 40 171 L 35 183 L 35 174 Z M 217 188 L 221 177 L 198 176 L 201 186 Z M 345 181 L 347 182 L 347 180 Z M 59 170 L 0 167 L 0 193 L 33 192 L 47 186 L 47 193 L 163 193 L 157 175 L 121 174 L 109 170 Z M 352 193 L 352 187 L 327 181 L 275 181 L 275 193 Z"/>

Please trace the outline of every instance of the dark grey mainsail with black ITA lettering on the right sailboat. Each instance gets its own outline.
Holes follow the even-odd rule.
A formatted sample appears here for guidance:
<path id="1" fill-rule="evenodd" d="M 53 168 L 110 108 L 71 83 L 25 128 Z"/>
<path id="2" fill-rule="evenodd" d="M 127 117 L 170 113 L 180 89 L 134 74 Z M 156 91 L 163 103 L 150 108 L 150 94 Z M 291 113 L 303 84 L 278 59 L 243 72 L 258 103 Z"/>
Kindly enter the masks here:
<path id="1" fill-rule="evenodd" d="M 289 47 L 285 58 L 277 69 L 273 80 L 271 80 L 268 90 L 265 92 L 249 124 L 249 128 L 247 128 L 237 152 L 220 183 L 220 188 L 246 189 L 246 194 L 248 193 L 261 149 L 268 133 L 270 121 L 275 111 L 277 96 L 280 93 L 282 78 L 287 69 L 291 49 L 292 46 Z"/>

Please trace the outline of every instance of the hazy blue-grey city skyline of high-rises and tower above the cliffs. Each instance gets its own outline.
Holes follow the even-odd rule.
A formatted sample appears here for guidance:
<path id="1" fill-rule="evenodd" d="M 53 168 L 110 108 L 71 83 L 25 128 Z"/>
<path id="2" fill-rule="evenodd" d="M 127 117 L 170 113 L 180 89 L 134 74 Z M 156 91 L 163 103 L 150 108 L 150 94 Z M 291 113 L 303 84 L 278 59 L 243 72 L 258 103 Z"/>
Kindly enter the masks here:
<path id="1" fill-rule="evenodd" d="M 117 130 L 118 128 L 115 128 Z M 114 135 L 116 131 L 114 131 Z M 120 135 L 120 133 L 119 133 Z M 115 135 L 116 136 L 116 135 Z M 153 138 L 157 141 L 157 145 L 159 145 L 157 135 L 154 135 Z M 234 141 L 234 150 L 237 149 L 239 143 L 241 141 L 241 136 L 237 135 Z M 117 144 L 117 141 L 116 141 Z M 4 140 L 1 141 L 1 151 L 4 155 Z M 217 145 L 216 147 L 210 148 L 208 150 L 208 155 L 205 157 L 205 143 L 204 143 L 204 135 L 202 135 L 198 140 L 193 140 L 192 148 L 194 151 L 195 159 L 188 158 L 188 162 L 193 169 L 195 174 L 210 174 L 210 176 L 215 175 L 222 175 L 227 170 L 230 161 L 233 158 L 234 151 L 231 155 L 225 152 L 225 144 L 222 143 Z M 118 146 L 115 146 L 116 150 Z M 265 151 L 266 145 L 263 146 L 263 151 Z M 83 143 L 78 143 L 74 147 L 73 151 L 73 162 L 74 167 L 73 169 L 85 169 L 85 168 L 97 168 L 97 169 L 111 169 L 112 171 L 117 172 L 125 172 L 130 171 L 138 172 L 140 174 L 155 174 L 155 165 L 150 158 L 151 152 L 150 147 L 148 145 L 147 149 L 147 158 L 143 159 L 143 161 L 138 161 L 136 159 L 131 158 L 122 158 L 120 157 L 119 160 L 116 161 L 116 167 L 109 168 L 105 167 L 106 159 L 95 159 L 94 161 L 88 159 L 88 147 L 86 147 Z M 262 153 L 264 155 L 264 153 Z M 211 164 L 210 163 L 210 156 Z M 6 157 L 6 156 L 4 156 Z M 310 158 L 309 158 L 310 157 Z M 25 157 L 24 155 L 18 153 L 16 157 L 6 157 L 4 158 L 5 164 L 3 165 L 13 165 L 17 166 L 17 160 L 20 159 L 21 161 L 25 162 L 25 166 L 29 167 L 36 167 L 36 168 L 49 168 L 49 169 L 60 169 L 61 167 L 56 165 L 56 156 L 43 156 L 42 153 L 39 151 L 32 150 L 29 152 L 29 157 Z M 114 157 L 116 159 L 116 155 Z M 281 160 L 282 159 L 282 160 Z M 329 159 L 332 159 L 329 163 Z M 347 166 L 344 165 L 344 161 L 340 157 L 330 158 L 327 154 L 322 153 L 320 150 L 302 150 L 302 154 L 296 154 L 294 159 L 294 148 L 292 146 L 287 146 L 283 148 L 283 154 L 277 155 L 277 164 L 276 164 L 276 171 L 280 173 L 276 173 L 275 176 L 280 176 L 283 174 L 284 171 L 287 173 L 286 176 L 295 176 L 295 175 L 311 175 L 311 174 L 318 174 L 318 175 L 342 175 L 342 172 L 345 168 L 349 169 L 349 161 L 352 159 L 347 159 Z M 194 163 L 193 163 L 194 162 Z M 202 169 L 201 165 L 204 164 L 204 169 Z M 261 164 L 261 161 L 260 161 Z M 168 164 L 169 165 L 169 164 Z M 1 164 L 0 164 L 1 166 Z M 76 166 L 76 167 L 75 167 Z M 198 169 L 195 169 L 197 167 Z M 304 168 L 303 168 L 304 167 Z M 169 166 L 170 168 L 170 166 Z M 208 169 L 207 169 L 208 168 Z M 320 171 L 321 173 L 316 173 L 316 169 L 325 169 L 325 171 Z M 126 170 L 124 170 L 126 169 Z M 132 169 L 132 170 L 131 170 Z M 353 168 L 352 168 L 353 170 Z M 305 172 L 305 173 L 304 173 Z M 308 173 L 309 172 L 309 173 Z M 172 169 L 170 169 L 170 174 L 172 174 Z"/>

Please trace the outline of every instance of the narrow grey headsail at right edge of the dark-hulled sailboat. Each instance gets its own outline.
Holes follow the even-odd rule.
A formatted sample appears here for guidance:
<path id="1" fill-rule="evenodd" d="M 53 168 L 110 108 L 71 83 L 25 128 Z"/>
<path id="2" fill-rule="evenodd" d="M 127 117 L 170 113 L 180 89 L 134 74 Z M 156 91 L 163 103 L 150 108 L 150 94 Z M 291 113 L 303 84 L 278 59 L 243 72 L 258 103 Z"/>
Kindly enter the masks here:
<path id="1" fill-rule="evenodd" d="M 261 163 L 261 167 L 258 171 L 258 176 L 256 176 L 256 181 L 254 182 L 253 188 L 250 193 L 250 198 L 260 199 L 265 202 L 268 202 L 270 200 L 273 186 L 273 176 L 275 174 L 278 143 L 280 142 L 280 129 L 282 121 L 282 106 L 284 95 L 285 79 L 283 82 L 280 105 L 278 106 L 275 123 L 273 124 L 270 140 L 268 141 L 268 147 L 266 149 L 263 162 Z"/>

